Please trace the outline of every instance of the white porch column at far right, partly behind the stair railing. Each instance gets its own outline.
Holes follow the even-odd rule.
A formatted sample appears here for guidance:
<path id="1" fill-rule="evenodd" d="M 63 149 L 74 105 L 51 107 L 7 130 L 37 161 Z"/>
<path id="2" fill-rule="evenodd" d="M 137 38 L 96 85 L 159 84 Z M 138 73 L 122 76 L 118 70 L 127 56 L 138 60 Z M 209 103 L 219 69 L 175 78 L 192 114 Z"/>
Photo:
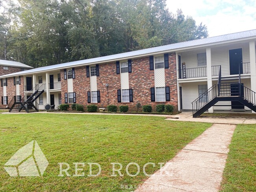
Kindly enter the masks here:
<path id="1" fill-rule="evenodd" d="M 250 41 L 250 86 L 251 90 L 256 92 L 256 58 L 255 58 L 255 41 Z M 252 111 L 252 113 L 255 113 Z"/>

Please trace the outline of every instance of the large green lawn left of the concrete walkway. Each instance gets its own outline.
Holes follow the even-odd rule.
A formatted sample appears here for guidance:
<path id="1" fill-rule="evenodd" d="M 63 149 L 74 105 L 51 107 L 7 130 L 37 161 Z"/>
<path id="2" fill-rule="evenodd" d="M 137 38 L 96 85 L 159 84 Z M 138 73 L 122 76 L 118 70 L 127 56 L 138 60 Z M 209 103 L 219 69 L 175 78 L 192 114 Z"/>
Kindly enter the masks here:
<path id="1" fill-rule="evenodd" d="M 0 191 L 132 191 L 121 185 L 137 186 L 152 174 L 158 162 L 172 159 L 187 143 L 211 126 L 208 123 L 173 122 L 156 116 L 87 114 L 1 114 L 0 115 Z M 49 162 L 43 177 L 9 177 L 3 166 L 22 146 L 36 140 Z M 70 164 L 71 177 L 58 177 L 58 162 Z M 101 165 L 97 177 L 73 177 L 73 162 Z M 111 162 L 119 162 L 123 177 L 111 177 Z M 136 162 L 141 172 L 130 177 L 125 167 Z M 81 167 L 80 167 L 81 168 Z M 80 174 L 82 171 L 79 171 Z M 93 170 L 95 174 L 97 170 Z M 135 174 L 137 168 L 130 166 Z"/>

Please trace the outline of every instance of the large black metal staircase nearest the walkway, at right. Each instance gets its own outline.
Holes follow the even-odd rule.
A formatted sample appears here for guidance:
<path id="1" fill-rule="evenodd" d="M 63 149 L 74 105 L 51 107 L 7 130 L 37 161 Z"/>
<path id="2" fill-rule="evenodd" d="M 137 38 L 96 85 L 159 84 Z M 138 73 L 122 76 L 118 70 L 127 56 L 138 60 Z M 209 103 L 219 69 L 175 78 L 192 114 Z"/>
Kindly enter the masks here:
<path id="1" fill-rule="evenodd" d="M 192 102 L 193 117 L 199 116 L 217 102 L 221 101 L 240 102 L 256 112 L 256 92 L 241 84 L 240 67 L 239 75 L 232 77 L 221 77 L 220 67 L 218 84 L 213 85 Z"/>

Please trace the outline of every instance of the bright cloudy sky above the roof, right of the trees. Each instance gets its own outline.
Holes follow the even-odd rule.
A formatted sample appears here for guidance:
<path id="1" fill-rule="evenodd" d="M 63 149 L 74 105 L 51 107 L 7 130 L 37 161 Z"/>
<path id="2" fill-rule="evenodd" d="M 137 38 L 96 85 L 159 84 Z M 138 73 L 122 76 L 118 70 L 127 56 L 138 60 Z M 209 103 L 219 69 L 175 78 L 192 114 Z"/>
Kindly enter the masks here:
<path id="1" fill-rule="evenodd" d="M 182 9 L 199 25 L 208 28 L 209 37 L 256 29 L 256 0 L 166 0 L 172 13 Z"/>

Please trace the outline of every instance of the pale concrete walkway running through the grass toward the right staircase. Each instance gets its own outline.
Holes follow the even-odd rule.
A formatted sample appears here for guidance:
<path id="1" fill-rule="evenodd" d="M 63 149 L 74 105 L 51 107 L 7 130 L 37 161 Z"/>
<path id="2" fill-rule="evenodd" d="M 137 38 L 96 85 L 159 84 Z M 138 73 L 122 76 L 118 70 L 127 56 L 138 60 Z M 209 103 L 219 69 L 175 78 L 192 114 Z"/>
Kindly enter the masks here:
<path id="1" fill-rule="evenodd" d="M 218 192 L 235 128 L 213 124 L 135 192 Z"/>

